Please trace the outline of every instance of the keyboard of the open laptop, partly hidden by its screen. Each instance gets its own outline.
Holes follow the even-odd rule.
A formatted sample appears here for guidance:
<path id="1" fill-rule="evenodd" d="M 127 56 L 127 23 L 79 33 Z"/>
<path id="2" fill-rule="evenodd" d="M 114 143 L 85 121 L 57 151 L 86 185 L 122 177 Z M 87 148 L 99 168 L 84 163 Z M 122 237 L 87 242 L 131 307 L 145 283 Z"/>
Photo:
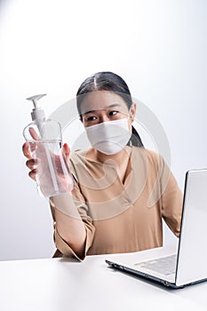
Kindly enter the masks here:
<path id="1" fill-rule="evenodd" d="M 177 254 L 158 259 L 139 262 L 134 264 L 136 267 L 144 267 L 147 270 L 158 272 L 161 275 L 172 275 L 175 273 Z"/>

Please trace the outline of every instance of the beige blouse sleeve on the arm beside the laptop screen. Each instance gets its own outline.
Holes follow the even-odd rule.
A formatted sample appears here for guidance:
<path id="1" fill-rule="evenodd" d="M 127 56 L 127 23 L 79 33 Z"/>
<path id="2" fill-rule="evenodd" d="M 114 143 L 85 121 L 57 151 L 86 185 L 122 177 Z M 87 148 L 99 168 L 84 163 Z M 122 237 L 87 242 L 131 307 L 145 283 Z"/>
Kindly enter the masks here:
<path id="1" fill-rule="evenodd" d="M 174 235 L 179 237 L 183 195 L 178 182 L 161 157 L 161 209 L 162 216 Z"/>

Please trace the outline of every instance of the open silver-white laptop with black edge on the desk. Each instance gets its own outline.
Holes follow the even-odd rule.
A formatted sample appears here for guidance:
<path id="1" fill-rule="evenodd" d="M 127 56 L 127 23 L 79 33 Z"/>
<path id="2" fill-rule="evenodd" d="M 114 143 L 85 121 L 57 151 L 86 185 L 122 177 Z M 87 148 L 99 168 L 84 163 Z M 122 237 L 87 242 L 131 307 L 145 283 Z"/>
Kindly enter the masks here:
<path id="1" fill-rule="evenodd" d="M 116 254 L 106 262 L 171 288 L 207 281 L 207 169 L 186 173 L 179 243 L 174 250 L 158 247 Z"/>

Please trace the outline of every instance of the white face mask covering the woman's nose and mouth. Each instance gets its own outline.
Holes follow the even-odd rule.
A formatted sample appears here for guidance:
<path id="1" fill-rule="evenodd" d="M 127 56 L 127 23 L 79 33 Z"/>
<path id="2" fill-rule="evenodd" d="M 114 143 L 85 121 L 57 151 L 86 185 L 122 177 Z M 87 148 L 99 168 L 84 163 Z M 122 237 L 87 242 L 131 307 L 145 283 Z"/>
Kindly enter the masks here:
<path id="1" fill-rule="evenodd" d="M 92 125 L 85 131 L 92 147 L 106 155 L 117 154 L 131 138 L 128 118 Z"/>

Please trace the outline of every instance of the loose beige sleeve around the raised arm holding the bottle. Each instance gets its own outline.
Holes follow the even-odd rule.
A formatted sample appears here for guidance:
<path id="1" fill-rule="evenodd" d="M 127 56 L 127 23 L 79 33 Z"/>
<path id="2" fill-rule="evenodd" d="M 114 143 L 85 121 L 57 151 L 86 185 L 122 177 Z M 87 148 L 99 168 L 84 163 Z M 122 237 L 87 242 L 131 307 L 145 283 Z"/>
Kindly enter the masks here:
<path id="1" fill-rule="evenodd" d="M 76 180 L 76 179 L 75 179 Z M 84 260 L 87 251 L 92 246 L 92 241 L 95 234 L 95 227 L 92 224 L 92 219 L 88 216 L 87 204 L 84 203 L 84 197 L 81 194 L 80 188 L 78 187 L 77 180 L 75 181 L 75 187 L 72 191 L 74 203 L 76 208 L 81 216 L 82 221 L 84 222 L 84 227 L 86 231 L 86 240 L 84 245 L 84 257 L 79 258 L 75 251 L 72 250 L 70 245 L 60 236 L 57 228 L 56 228 L 56 219 L 55 219 L 55 205 L 50 200 L 51 210 L 52 210 L 52 219 L 53 219 L 53 227 L 54 227 L 54 243 L 58 251 L 55 252 L 54 257 L 68 257 L 71 259 L 77 259 L 79 261 Z"/>

